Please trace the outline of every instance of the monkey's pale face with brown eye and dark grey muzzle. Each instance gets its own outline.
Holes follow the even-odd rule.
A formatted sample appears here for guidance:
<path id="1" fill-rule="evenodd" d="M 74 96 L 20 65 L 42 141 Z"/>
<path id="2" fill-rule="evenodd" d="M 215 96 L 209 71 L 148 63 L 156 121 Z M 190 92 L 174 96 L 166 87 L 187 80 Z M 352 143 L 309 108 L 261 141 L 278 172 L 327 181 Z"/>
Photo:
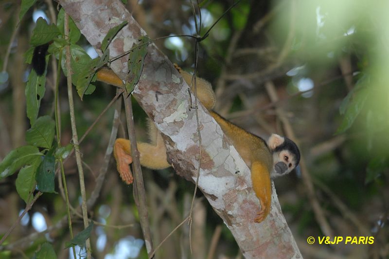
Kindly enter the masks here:
<path id="1" fill-rule="evenodd" d="M 290 173 L 297 165 L 296 156 L 289 150 L 273 151 L 271 178 Z"/>

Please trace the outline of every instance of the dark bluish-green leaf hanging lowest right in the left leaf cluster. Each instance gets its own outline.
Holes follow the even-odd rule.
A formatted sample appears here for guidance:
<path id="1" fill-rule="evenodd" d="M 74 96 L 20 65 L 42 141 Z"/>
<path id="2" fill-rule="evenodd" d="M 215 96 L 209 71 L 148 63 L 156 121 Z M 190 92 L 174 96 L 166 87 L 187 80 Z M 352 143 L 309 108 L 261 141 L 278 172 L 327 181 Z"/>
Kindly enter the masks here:
<path id="1" fill-rule="evenodd" d="M 42 163 L 39 165 L 35 175 L 35 181 L 38 190 L 41 192 L 53 192 L 54 190 L 54 165 L 55 158 L 53 155 L 45 155 Z"/>

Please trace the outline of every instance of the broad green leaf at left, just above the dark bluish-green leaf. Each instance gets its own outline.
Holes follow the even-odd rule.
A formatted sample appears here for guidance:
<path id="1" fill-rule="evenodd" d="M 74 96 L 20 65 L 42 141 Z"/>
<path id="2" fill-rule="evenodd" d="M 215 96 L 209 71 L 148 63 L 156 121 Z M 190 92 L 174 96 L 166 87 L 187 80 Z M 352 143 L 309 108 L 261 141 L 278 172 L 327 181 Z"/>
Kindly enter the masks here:
<path id="1" fill-rule="evenodd" d="M 26 132 L 26 142 L 40 148 L 51 148 L 54 139 L 55 122 L 50 116 L 39 117 Z"/>

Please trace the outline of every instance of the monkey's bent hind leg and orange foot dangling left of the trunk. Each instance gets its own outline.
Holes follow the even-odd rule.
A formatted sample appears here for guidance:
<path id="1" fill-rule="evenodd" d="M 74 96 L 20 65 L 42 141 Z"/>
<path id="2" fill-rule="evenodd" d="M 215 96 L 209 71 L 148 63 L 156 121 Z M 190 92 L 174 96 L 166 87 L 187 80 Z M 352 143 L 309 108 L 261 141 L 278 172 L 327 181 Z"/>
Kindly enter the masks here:
<path id="1" fill-rule="evenodd" d="M 160 133 L 157 134 L 156 144 L 137 142 L 137 146 L 140 153 L 141 166 L 151 169 L 164 169 L 170 166 L 167 163 L 166 148 Z M 132 163 L 130 141 L 118 138 L 115 141 L 113 155 L 116 159 L 120 177 L 126 184 L 131 184 L 133 177 L 129 167 Z"/>

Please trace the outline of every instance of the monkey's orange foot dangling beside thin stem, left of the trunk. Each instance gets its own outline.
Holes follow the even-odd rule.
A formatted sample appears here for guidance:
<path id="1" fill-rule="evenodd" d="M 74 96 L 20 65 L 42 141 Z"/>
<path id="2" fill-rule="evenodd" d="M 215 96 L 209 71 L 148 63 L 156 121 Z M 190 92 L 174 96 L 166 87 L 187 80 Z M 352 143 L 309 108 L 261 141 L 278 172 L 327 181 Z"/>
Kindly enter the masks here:
<path id="1" fill-rule="evenodd" d="M 116 160 L 118 172 L 122 180 L 127 184 L 132 184 L 132 173 L 129 165 L 132 163 L 130 141 L 118 138 L 113 146 L 113 155 Z"/>

